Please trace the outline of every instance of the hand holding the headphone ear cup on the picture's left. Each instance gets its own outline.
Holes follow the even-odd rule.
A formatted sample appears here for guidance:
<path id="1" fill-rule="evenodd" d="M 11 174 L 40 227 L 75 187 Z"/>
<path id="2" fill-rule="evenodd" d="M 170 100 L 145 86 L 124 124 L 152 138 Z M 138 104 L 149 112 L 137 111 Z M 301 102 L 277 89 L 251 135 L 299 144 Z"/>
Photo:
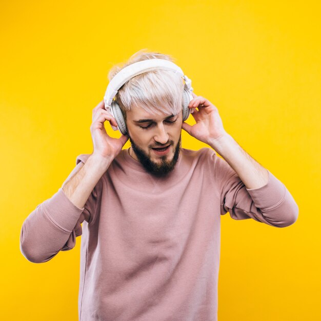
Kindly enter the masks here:
<path id="1" fill-rule="evenodd" d="M 106 121 L 109 121 L 113 126 L 118 126 L 116 119 L 105 109 L 104 101 L 102 101 L 92 111 L 92 124 L 90 126 L 94 148 L 92 155 L 112 160 L 128 141 L 128 134 L 122 134 L 119 138 L 108 136 L 104 126 Z"/>

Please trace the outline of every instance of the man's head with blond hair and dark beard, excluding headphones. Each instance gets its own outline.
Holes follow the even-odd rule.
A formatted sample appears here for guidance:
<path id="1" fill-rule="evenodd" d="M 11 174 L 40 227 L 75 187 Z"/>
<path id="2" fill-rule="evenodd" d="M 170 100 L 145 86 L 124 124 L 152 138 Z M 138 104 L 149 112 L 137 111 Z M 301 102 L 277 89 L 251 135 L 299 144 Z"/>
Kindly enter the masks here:
<path id="1" fill-rule="evenodd" d="M 122 68 L 145 59 L 169 55 L 138 51 L 122 67 L 109 72 L 109 80 Z M 173 170 L 180 151 L 184 82 L 172 71 L 155 69 L 131 78 L 115 96 L 126 121 L 130 154 L 145 169 L 164 176 Z M 167 147 L 162 153 L 157 148 Z"/>

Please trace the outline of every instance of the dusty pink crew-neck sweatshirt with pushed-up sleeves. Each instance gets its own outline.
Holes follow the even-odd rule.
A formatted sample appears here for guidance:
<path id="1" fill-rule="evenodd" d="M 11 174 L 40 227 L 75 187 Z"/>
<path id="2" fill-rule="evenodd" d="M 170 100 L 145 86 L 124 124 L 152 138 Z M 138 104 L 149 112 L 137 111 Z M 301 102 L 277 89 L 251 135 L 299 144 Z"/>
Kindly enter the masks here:
<path id="1" fill-rule="evenodd" d="M 79 155 L 74 171 L 89 156 Z M 182 148 L 167 178 L 151 176 L 125 149 L 84 208 L 62 188 L 39 204 L 23 223 L 20 246 L 42 263 L 82 235 L 79 320 L 214 321 L 220 215 L 227 212 L 286 227 L 298 206 L 270 172 L 267 185 L 247 189 L 210 148 Z"/>

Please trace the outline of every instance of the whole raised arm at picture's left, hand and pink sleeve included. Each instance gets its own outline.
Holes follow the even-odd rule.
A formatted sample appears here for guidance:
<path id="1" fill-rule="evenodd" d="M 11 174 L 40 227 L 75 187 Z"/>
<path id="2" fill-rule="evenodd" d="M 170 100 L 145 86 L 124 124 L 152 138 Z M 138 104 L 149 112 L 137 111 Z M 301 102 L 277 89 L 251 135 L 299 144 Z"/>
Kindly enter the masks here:
<path id="1" fill-rule="evenodd" d="M 81 223 L 92 219 L 101 192 L 97 183 L 128 139 L 127 135 L 109 137 L 104 127 L 106 120 L 117 126 L 101 102 L 93 110 L 90 127 L 93 153 L 85 164 L 78 163 L 63 186 L 25 219 L 20 249 L 30 262 L 47 262 L 59 251 L 72 249 L 76 236 L 82 234 Z"/>

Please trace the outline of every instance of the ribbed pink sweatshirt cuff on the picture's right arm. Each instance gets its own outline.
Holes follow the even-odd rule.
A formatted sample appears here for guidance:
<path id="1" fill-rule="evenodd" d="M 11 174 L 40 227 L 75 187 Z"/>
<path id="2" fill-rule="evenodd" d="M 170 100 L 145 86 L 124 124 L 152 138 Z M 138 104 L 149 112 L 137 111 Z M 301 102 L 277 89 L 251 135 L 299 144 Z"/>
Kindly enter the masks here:
<path id="1" fill-rule="evenodd" d="M 247 188 L 257 208 L 269 210 L 281 204 L 285 198 L 286 187 L 269 170 L 268 183 L 260 188 Z"/>

